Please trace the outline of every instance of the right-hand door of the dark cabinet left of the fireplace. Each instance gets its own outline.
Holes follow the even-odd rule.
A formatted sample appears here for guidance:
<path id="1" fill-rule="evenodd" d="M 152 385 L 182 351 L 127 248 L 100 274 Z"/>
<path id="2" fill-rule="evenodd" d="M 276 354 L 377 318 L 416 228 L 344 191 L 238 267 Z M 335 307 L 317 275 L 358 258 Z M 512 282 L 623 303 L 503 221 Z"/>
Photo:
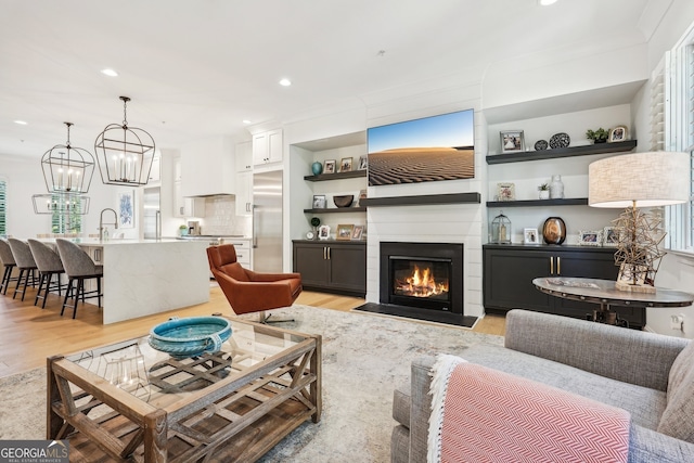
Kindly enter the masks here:
<path id="1" fill-rule="evenodd" d="M 367 292 L 367 247 L 331 244 L 330 283 L 340 290 Z"/>

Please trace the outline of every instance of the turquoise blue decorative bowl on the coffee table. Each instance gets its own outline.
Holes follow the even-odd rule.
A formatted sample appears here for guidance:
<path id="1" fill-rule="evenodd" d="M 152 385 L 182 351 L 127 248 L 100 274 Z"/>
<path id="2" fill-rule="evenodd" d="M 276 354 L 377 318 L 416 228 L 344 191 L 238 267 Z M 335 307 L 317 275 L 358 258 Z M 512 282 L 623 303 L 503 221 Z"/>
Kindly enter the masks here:
<path id="1" fill-rule="evenodd" d="M 147 342 L 153 349 L 177 359 L 217 352 L 231 337 L 231 323 L 221 317 L 174 317 L 150 331 Z"/>

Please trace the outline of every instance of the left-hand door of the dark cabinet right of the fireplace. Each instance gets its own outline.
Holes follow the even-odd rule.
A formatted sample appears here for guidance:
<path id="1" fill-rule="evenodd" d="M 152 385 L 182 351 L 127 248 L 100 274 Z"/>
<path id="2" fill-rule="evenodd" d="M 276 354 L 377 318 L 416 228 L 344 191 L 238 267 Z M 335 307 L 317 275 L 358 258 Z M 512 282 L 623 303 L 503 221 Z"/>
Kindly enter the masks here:
<path id="1" fill-rule="evenodd" d="M 485 249 L 484 306 L 492 309 L 551 311 L 551 297 L 532 280 L 550 275 L 548 252 Z"/>

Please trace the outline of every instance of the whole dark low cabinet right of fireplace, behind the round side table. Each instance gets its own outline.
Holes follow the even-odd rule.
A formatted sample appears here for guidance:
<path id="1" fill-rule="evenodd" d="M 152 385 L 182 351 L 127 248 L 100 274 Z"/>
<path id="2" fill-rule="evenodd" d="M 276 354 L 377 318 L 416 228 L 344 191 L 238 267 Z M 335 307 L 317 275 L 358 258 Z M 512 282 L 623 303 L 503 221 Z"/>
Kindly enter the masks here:
<path id="1" fill-rule="evenodd" d="M 489 312 L 527 309 L 586 319 L 596 304 L 569 300 L 541 293 L 532 280 L 541 276 L 577 276 L 616 280 L 614 248 L 588 246 L 483 246 L 484 306 Z M 645 309 L 613 306 L 632 327 L 645 325 Z"/>

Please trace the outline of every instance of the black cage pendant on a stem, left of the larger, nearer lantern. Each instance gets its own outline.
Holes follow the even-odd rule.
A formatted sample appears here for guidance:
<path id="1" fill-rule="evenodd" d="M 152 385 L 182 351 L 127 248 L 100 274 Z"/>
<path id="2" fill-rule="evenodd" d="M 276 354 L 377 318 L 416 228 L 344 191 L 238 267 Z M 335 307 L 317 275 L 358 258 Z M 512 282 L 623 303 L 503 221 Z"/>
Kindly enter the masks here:
<path id="1" fill-rule="evenodd" d="M 46 188 L 49 193 L 87 193 L 94 175 L 94 157 L 87 150 L 70 145 L 69 128 L 73 124 L 64 124 L 67 126 L 67 143 L 56 144 L 41 158 Z"/>

